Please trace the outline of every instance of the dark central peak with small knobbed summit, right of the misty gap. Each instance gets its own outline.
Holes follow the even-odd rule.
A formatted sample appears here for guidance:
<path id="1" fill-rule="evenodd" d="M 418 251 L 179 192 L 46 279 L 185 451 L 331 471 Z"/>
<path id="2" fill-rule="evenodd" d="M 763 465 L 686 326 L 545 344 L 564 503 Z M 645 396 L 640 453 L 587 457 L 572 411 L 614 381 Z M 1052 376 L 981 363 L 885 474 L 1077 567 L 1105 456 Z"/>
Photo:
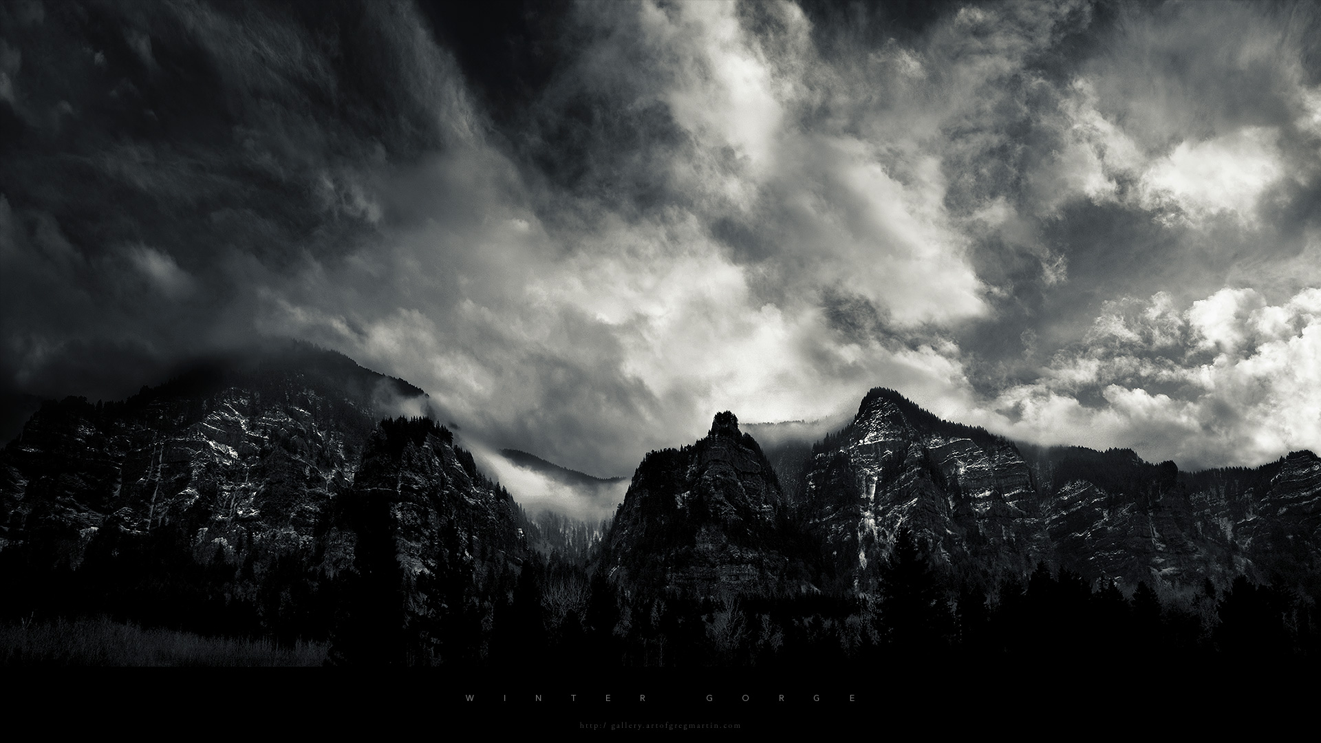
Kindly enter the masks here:
<path id="1" fill-rule="evenodd" d="M 626 588 L 712 595 L 797 590 L 785 500 L 757 442 L 721 412 L 709 434 L 642 460 L 605 539 L 600 568 Z"/>

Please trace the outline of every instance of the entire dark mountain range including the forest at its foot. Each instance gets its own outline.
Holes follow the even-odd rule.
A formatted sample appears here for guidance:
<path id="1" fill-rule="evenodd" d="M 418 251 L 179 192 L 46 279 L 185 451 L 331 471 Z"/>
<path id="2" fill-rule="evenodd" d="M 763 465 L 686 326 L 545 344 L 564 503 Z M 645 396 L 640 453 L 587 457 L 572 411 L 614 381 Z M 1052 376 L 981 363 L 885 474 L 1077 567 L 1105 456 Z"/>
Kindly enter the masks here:
<path id="1" fill-rule="evenodd" d="M 421 390 L 303 344 L 123 402 L 42 403 L 0 451 L 0 619 L 108 615 L 324 641 L 341 664 L 505 670 L 872 668 L 956 648 L 1321 657 L 1312 452 L 1180 472 L 1015 443 L 875 389 L 814 444 L 764 450 L 715 415 L 646 455 L 598 529 L 528 520 L 449 428 L 406 410 L 429 410 Z"/>

